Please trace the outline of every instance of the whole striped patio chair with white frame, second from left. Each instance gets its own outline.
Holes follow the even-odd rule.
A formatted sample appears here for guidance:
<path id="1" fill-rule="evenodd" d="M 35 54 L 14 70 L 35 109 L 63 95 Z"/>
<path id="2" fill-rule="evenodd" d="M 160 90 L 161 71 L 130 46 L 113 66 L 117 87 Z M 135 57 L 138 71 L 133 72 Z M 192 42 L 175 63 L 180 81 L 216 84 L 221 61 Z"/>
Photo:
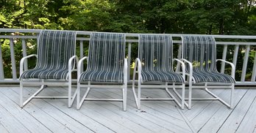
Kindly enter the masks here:
<path id="1" fill-rule="evenodd" d="M 83 61 L 87 59 L 87 69 L 82 70 Z M 88 57 L 81 58 L 77 74 L 77 110 L 84 101 L 118 101 L 123 102 L 127 110 L 127 58 L 125 58 L 124 34 L 92 33 Z M 87 88 L 80 100 L 80 88 Z M 90 88 L 121 88 L 122 99 L 87 98 Z"/>

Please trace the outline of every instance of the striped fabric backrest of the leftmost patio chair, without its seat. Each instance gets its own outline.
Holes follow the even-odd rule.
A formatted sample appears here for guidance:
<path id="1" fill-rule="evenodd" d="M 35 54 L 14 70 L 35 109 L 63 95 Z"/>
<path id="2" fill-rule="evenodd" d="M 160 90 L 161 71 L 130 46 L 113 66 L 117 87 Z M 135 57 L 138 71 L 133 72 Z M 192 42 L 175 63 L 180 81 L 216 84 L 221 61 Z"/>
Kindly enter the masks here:
<path id="1" fill-rule="evenodd" d="M 35 69 L 68 69 L 68 60 L 75 55 L 76 36 L 75 31 L 40 31 Z"/>

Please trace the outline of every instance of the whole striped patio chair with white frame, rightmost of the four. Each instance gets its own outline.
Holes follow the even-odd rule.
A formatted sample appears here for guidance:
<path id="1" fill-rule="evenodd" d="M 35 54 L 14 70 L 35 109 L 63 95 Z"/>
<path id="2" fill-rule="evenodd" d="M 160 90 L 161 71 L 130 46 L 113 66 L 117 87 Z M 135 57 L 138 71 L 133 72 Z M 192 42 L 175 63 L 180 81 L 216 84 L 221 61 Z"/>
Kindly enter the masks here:
<path id="1" fill-rule="evenodd" d="M 218 100 L 232 109 L 235 83 L 234 64 L 216 59 L 216 41 L 211 36 L 182 36 L 182 61 L 185 62 L 188 74 L 188 106 L 191 100 Z M 231 75 L 220 73 L 216 69 L 216 61 L 224 61 L 232 66 Z M 192 98 L 192 88 L 204 88 L 213 98 Z M 231 88 L 230 104 L 224 102 L 208 88 Z"/>

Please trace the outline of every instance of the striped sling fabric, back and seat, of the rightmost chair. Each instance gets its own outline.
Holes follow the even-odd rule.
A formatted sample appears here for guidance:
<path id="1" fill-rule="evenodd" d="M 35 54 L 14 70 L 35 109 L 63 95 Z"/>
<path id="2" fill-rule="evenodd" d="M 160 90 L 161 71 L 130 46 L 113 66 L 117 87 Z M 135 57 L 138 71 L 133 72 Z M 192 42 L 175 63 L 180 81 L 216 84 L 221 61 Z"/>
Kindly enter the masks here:
<path id="1" fill-rule="evenodd" d="M 216 41 L 210 36 L 182 36 L 183 58 L 193 64 L 196 83 L 235 83 L 216 69 Z M 186 69 L 188 70 L 188 65 Z"/>

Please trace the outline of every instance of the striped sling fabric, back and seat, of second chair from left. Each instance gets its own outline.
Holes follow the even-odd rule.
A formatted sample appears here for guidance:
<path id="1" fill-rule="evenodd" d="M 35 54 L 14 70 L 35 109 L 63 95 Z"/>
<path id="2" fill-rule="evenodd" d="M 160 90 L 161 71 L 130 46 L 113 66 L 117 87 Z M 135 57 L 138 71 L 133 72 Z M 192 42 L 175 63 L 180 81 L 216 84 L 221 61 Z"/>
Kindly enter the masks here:
<path id="1" fill-rule="evenodd" d="M 96 81 L 123 83 L 124 56 L 124 34 L 91 34 L 88 68 L 80 75 L 79 82 Z"/>

